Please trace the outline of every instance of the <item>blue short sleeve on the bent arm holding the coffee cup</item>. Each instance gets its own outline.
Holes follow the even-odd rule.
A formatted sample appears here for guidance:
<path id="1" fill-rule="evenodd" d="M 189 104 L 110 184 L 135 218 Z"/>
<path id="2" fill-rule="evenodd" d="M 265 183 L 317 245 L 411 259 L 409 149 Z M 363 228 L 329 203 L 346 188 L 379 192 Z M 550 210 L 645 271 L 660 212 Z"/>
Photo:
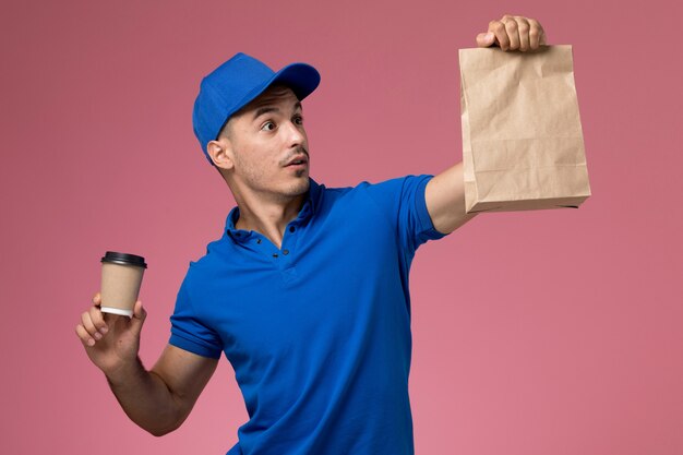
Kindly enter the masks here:
<path id="1" fill-rule="evenodd" d="M 189 273 L 180 286 L 176 299 L 176 310 L 170 318 L 171 336 L 169 344 L 197 356 L 217 359 L 223 344 L 220 337 L 202 322 L 192 302 Z"/>

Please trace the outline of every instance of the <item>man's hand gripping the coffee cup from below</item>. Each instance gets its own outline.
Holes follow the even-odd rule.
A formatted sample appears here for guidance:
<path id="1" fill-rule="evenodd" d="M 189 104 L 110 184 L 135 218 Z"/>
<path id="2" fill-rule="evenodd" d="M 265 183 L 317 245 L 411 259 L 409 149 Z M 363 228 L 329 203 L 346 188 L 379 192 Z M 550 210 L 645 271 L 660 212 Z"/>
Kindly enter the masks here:
<path id="1" fill-rule="evenodd" d="M 81 314 L 76 335 L 93 363 L 111 378 L 136 361 L 140 332 L 147 313 L 140 300 L 135 302 L 132 318 L 103 313 L 100 303 L 101 297 L 97 292 L 93 306 Z"/>

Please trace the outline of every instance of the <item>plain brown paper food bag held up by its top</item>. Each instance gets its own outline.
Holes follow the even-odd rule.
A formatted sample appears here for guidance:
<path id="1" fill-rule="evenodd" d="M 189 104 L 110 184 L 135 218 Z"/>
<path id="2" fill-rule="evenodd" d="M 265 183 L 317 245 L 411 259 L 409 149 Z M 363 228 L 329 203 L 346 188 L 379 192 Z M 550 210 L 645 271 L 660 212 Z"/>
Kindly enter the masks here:
<path id="1" fill-rule="evenodd" d="M 459 60 L 467 213 L 578 207 L 590 187 L 572 46 Z"/>

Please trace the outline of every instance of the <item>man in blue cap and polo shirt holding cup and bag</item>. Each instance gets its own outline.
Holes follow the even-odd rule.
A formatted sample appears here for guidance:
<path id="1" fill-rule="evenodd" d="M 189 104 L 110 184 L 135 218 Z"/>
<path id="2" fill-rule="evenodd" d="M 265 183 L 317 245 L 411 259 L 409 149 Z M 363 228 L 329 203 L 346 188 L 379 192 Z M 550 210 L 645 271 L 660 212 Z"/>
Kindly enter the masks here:
<path id="1" fill-rule="evenodd" d="M 480 47 L 532 50 L 540 24 L 505 15 Z M 408 399 L 408 271 L 417 248 L 455 230 L 463 168 L 326 189 L 309 177 L 301 100 L 320 75 L 274 73 L 237 55 L 202 82 L 194 131 L 237 207 L 192 263 L 169 345 L 147 371 L 146 316 L 103 315 L 99 295 L 76 334 L 128 416 L 155 435 L 178 428 L 225 352 L 250 420 L 228 454 L 414 453 Z"/>

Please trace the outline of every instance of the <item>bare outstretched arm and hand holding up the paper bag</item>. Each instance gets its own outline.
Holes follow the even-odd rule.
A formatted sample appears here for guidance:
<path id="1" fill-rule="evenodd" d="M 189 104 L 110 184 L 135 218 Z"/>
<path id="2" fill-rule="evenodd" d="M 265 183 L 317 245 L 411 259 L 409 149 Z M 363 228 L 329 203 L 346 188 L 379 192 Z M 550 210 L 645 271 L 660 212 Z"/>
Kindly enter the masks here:
<path id="1" fill-rule="evenodd" d="M 500 21 L 491 21 L 488 32 L 477 36 L 477 46 L 500 46 L 504 51 L 536 50 L 544 44 L 546 32 L 538 21 L 510 14 L 505 14 Z M 475 217 L 465 212 L 462 163 L 430 180 L 424 199 L 434 228 L 440 232 L 450 234 Z"/>

